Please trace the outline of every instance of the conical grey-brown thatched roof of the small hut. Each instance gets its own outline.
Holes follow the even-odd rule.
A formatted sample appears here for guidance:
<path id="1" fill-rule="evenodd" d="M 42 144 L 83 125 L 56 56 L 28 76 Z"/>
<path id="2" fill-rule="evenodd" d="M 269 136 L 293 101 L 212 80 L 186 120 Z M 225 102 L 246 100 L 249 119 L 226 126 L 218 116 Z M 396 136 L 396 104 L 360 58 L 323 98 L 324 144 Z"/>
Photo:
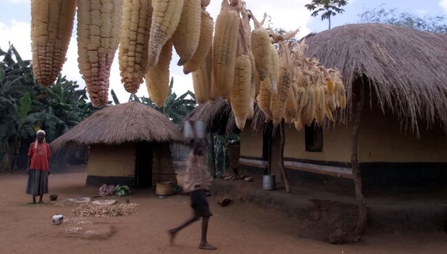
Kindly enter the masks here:
<path id="1" fill-rule="evenodd" d="M 105 107 L 51 142 L 58 151 L 66 145 L 124 142 L 183 142 L 182 134 L 169 118 L 142 103 Z"/>

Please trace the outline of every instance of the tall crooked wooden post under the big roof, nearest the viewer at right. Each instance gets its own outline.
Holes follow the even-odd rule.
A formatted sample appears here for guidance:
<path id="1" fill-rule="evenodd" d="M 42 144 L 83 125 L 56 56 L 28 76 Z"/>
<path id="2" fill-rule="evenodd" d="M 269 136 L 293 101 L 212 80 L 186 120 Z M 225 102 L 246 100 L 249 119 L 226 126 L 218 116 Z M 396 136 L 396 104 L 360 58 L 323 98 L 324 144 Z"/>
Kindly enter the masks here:
<path id="1" fill-rule="evenodd" d="M 364 88 L 360 87 L 360 99 L 357 102 L 357 109 L 354 118 L 354 126 L 352 130 L 352 174 L 354 180 L 354 187 L 356 189 L 356 200 L 358 205 L 358 222 L 356 228 L 356 234 L 358 240 L 360 236 L 363 235 L 367 228 L 367 206 L 363 198 L 363 187 L 362 187 L 362 172 L 358 165 L 358 131 L 360 131 L 360 118 L 362 116 L 362 108 L 364 105 Z"/>

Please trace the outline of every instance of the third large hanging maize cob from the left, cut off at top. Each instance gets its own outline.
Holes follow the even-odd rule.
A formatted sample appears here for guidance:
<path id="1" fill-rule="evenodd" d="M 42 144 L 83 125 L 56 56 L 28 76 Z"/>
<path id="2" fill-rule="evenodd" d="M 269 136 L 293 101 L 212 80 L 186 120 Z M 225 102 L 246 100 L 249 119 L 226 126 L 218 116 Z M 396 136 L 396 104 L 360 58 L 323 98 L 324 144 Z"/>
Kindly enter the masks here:
<path id="1" fill-rule="evenodd" d="M 121 82 L 131 94 L 138 91 L 146 74 L 151 17 L 151 0 L 124 1 L 118 62 Z"/>

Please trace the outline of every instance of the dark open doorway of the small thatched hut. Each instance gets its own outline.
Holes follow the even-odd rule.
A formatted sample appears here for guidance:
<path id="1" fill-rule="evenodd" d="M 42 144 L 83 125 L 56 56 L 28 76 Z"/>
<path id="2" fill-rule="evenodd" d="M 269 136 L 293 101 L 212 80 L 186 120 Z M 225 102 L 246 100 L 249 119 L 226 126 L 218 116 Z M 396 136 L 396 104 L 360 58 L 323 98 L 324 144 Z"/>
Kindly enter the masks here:
<path id="1" fill-rule="evenodd" d="M 137 188 L 152 187 L 152 145 L 149 143 L 137 144 L 135 180 Z"/>

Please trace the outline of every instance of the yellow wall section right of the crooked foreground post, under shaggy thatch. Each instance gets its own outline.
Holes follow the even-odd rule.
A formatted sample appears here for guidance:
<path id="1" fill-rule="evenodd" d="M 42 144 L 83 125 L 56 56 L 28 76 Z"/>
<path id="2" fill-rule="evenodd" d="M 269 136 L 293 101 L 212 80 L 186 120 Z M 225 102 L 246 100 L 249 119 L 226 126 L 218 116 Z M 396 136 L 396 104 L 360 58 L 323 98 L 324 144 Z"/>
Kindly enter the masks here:
<path id="1" fill-rule="evenodd" d="M 391 112 L 365 109 L 359 133 L 360 162 L 447 162 L 447 137 L 441 128 L 426 130 L 420 125 L 420 138 L 400 130 Z"/>

